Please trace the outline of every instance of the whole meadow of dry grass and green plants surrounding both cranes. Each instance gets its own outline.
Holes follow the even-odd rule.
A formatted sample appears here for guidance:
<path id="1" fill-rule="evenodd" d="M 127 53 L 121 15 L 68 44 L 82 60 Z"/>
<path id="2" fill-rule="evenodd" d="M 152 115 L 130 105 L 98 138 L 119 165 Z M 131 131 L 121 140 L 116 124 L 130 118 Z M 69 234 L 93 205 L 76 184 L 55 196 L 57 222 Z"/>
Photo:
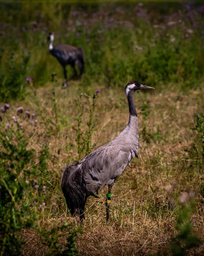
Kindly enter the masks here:
<path id="1" fill-rule="evenodd" d="M 0 3 L 0 255 L 204 254 L 204 5 Z M 82 47 L 63 85 L 54 44 Z M 67 67 L 72 76 L 71 67 Z M 139 159 L 86 203 L 80 225 L 60 189 L 64 166 L 127 125 L 134 95 Z"/>

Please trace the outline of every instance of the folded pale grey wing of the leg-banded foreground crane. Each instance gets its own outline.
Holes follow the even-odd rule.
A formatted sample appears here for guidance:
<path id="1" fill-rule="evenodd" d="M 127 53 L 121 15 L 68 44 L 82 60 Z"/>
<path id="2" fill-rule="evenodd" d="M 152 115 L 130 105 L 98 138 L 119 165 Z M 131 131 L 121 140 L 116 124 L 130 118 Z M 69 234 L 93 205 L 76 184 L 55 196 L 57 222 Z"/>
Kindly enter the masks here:
<path id="1" fill-rule="evenodd" d="M 132 157 L 128 147 L 102 146 L 90 153 L 80 163 L 80 171 L 86 182 L 89 192 L 95 194 L 98 189 L 108 183 L 109 180 L 117 179 Z"/>

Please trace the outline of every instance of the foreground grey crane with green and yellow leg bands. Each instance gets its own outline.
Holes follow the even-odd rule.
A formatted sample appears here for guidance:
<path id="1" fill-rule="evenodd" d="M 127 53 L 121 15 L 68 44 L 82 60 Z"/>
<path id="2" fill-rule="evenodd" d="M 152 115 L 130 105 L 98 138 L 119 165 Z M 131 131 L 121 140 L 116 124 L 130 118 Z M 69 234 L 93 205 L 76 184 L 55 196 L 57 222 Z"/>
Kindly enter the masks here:
<path id="1" fill-rule="evenodd" d="M 87 198 L 98 198 L 98 190 L 108 184 L 106 195 L 106 220 L 109 219 L 111 188 L 123 173 L 132 157 L 138 157 L 138 116 L 133 93 L 140 89 L 154 89 L 137 81 L 129 82 L 125 94 L 129 104 L 129 122 L 126 128 L 112 141 L 95 149 L 80 162 L 65 167 L 61 176 L 61 189 L 72 215 L 84 218 Z"/>

